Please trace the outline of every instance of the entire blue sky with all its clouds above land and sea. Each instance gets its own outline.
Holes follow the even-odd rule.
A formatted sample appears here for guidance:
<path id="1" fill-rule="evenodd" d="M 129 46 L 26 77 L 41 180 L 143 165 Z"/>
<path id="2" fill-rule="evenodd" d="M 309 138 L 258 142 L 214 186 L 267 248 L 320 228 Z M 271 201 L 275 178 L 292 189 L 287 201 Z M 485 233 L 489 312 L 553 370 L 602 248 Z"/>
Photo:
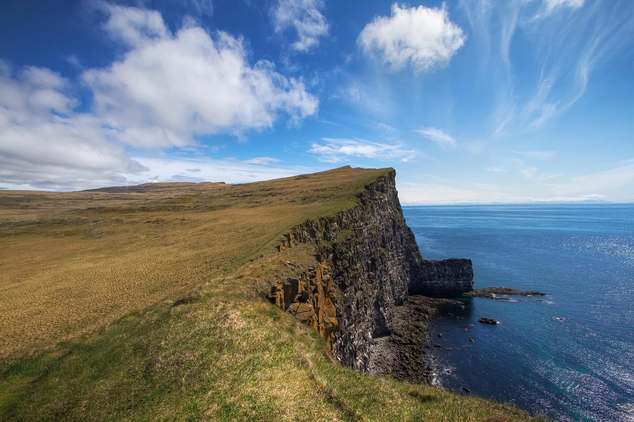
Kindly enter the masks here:
<path id="1" fill-rule="evenodd" d="M 396 168 L 403 204 L 634 201 L 634 3 L 0 4 L 0 187 Z"/>

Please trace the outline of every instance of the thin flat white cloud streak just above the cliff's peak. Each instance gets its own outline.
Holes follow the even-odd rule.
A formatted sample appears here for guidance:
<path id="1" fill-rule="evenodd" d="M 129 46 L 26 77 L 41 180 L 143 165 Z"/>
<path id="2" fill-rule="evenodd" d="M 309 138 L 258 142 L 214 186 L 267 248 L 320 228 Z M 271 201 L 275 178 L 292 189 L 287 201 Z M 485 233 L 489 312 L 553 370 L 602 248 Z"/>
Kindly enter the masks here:
<path id="1" fill-rule="evenodd" d="M 416 155 L 416 151 L 405 149 L 402 144 L 382 144 L 362 139 L 322 138 L 321 140 L 324 143 L 315 142 L 308 152 L 316 154 L 317 159 L 324 163 L 338 163 L 349 157 L 399 159 L 405 162 Z"/>

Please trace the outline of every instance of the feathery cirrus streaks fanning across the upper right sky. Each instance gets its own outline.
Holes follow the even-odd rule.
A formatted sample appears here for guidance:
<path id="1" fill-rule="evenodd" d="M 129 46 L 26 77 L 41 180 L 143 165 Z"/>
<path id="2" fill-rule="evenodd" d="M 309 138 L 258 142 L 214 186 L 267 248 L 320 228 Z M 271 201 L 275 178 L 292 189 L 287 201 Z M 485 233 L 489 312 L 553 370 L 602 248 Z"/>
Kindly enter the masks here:
<path id="1" fill-rule="evenodd" d="M 494 136 L 538 130 L 562 115 L 585 94 L 597 66 L 632 44 L 634 16 L 628 1 L 617 0 L 610 7 L 602 7 L 600 0 L 460 4 L 474 34 L 470 41 L 481 50 L 483 68 L 495 69 L 495 77 L 487 76 L 495 81 L 490 113 Z M 529 70 L 532 87 L 516 82 L 510 52 L 517 32 L 530 40 L 539 60 Z"/>

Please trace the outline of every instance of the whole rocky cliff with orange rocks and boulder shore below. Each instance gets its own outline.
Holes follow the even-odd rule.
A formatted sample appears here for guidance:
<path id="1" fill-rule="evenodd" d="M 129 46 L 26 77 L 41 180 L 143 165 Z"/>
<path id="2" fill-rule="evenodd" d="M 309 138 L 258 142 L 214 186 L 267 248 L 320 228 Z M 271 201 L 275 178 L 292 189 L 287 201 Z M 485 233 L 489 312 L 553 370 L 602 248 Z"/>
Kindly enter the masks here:
<path id="1" fill-rule="evenodd" d="M 388 170 L 365 186 L 353 208 L 286 233 L 279 251 L 314 244 L 323 268 L 271 286 L 269 300 L 318 330 L 344 366 L 429 383 L 427 323 L 437 306 L 449 303 L 429 297 L 472 290 L 472 263 L 420 256 L 395 177 L 396 171 Z"/>

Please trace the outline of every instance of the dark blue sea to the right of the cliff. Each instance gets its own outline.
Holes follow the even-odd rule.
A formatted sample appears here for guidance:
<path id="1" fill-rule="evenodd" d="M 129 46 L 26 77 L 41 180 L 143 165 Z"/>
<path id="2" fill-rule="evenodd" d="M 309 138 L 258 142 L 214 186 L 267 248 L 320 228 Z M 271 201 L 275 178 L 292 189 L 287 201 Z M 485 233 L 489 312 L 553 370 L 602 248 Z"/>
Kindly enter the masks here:
<path id="1" fill-rule="evenodd" d="M 403 213 L 424 258 L 472 259 L 475 288 L 548 293 L 517 297 L 523 302 L 465 299 L 465 311 L 454 311 L 464 320 L 434 320 L 433 341 L 443 346 L 434 349 L 440 385 L 557 421 L 634 421 L 633 205 Z M 481 316 L 501 323 L 479 324 Z"/>

